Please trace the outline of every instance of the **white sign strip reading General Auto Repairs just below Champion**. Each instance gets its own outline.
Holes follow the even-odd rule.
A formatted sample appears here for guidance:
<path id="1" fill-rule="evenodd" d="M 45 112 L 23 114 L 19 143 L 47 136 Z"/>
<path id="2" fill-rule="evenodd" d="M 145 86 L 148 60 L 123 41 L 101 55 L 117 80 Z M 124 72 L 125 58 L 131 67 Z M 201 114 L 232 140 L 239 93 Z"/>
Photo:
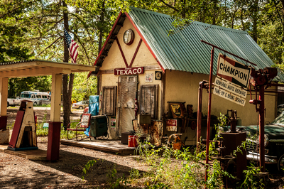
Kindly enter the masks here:
<path id="1" fill-rule="evenodd" d="M 227 82 L 225 80 L 221 80 L 220 78 L 216 77 L 215 86 L 221 87 L 222 89 L 234 93 L 235 95 L 239 95 L 243 98 L 246 98 L 246 94 L 248 93 L 246 90 L 243 90 L 241 87 L 234 85 L 231 82 Z"/>

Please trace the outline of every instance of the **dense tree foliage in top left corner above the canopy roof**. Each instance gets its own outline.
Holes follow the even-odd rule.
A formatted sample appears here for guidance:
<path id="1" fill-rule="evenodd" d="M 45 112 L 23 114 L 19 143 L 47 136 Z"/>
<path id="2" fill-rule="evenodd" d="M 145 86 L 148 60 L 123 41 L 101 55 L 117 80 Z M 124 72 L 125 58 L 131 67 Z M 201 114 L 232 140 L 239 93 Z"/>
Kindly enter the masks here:
<path id="1" fill-rule="evenodd" d="M 36 4 L 36 1 L 34 1 Z M 30 1 L 0 1 L 0 62 L 25 60 L 33 55 L 26 43 L 26 12 L 33 9 Z"/>

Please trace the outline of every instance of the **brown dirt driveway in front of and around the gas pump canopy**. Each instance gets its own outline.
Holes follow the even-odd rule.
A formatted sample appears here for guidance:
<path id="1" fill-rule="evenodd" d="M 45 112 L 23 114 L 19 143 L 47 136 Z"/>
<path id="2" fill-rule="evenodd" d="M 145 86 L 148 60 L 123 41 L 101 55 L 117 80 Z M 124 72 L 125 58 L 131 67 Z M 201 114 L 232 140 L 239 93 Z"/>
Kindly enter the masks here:
<path id="1" fill-rule="evenodd" d="M 9 124 L 16 118 L 18 109 L 9 108 Z M 47 109 L 35 109 L 38 121 L 50 117 Z M 71 119 L 79 119 L 82 112 L 73 112 Z M 48 138 L 38 137 L 38 148 L 47 150 Z M 95 160 L 92 174 L 84 175 L 82 170 L 90 160 Z M 116 177 L 129 175 L 132 169 L 147 171 L 146 166 L 136 161 L 136 156 L 119 156 L 87 148 L 60 145 L 60 159 L 30 161 L 25 158 L 0 152 L 0 188 L 90 188 L 90 182 L 97 188 L 106 188 L 111 182 L 109 173 L 116 170 Z M 84 175 L 84 180 L 82 180 Z M 94 187 L 92 187 L 94 188 Z M 137 188 L 137 187 L 134 187 Z"/>

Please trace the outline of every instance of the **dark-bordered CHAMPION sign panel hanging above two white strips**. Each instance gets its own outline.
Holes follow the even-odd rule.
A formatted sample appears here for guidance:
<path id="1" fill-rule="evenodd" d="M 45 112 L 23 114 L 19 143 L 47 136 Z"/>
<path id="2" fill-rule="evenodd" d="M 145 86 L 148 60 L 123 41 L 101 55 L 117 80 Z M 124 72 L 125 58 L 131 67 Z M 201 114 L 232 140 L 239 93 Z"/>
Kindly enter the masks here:
<path id="1" fill-rule="evenodd" d="M 251 68 L 227 56 L 224 57 L 224 55 L 220 53 L 218 57 L 217 75 L 222 77 L 222 79 L 247 88 L 249 85 Z"/>

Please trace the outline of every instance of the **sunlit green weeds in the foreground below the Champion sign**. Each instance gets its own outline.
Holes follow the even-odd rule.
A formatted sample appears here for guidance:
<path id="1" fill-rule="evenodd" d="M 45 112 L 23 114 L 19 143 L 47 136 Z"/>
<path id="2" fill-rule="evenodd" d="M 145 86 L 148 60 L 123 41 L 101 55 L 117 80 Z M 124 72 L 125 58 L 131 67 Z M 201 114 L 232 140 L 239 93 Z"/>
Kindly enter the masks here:
<path id="1" fill-rule="evenodd" d="M 207 181 L 203 180 L 204 152 L 192 153 L 190 148 L 178 151 L 169 146 L 155 149 L 149 143 L 139 145 L 142 159 L 150 166 L 151 175 L 145 181 L 148 188 L 203 188 L 205 184 L 208 188 L 219 188 L 222 175 L 232 177 L 222 170 L 218 161 L 214 161 L 208 170 Z"/>

